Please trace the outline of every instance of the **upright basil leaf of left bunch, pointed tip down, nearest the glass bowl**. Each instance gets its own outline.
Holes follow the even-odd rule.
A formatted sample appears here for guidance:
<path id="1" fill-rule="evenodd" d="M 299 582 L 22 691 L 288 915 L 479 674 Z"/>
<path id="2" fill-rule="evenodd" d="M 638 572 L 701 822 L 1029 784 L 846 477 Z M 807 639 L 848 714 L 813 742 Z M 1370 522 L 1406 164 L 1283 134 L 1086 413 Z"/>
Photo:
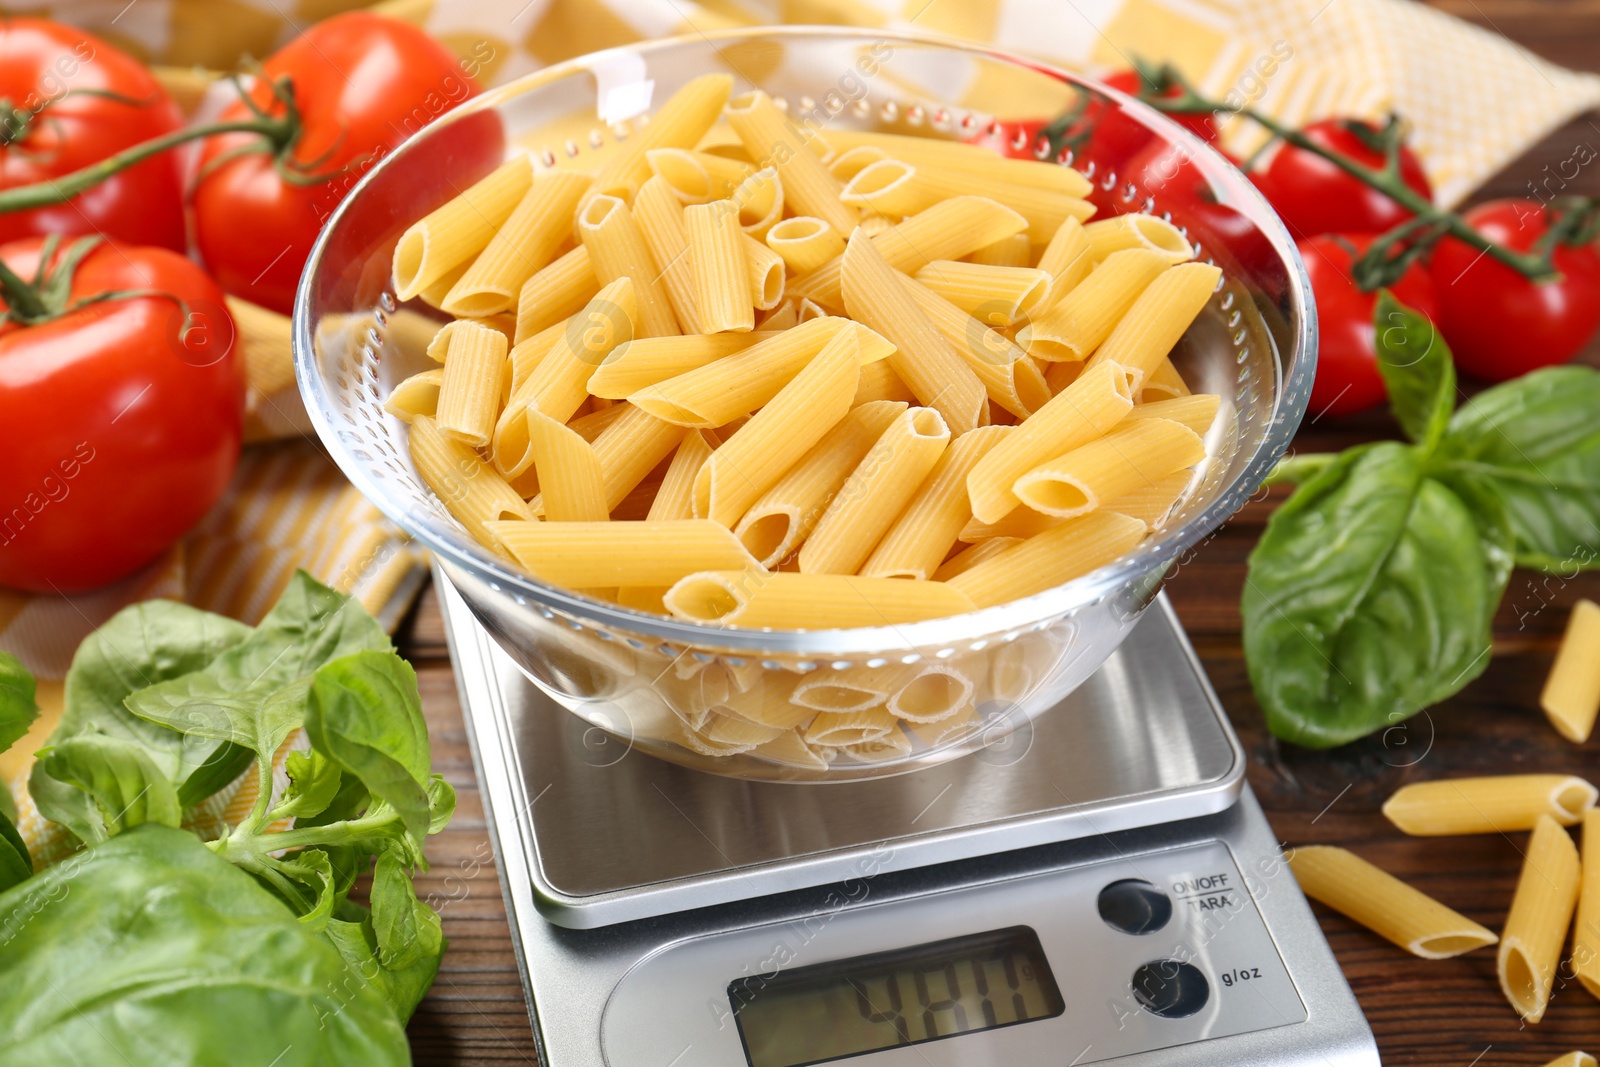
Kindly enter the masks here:
<path id="1" fill-rule="evenodd" d="M 411 664 L 366 651 L 322 667 L 310 685 L 306 734 L 315 750 L 394 806 L 416 841 L 427 837 L 427 725 Z"/>

